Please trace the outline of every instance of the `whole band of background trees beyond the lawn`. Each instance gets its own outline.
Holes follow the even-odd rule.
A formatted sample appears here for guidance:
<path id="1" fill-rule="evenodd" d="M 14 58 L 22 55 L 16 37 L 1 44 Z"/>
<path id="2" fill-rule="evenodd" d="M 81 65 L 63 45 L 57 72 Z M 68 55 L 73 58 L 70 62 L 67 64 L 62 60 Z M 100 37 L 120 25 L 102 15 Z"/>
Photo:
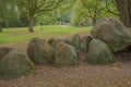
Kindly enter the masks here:
<path id="1" fill-rule="evenodd" d="M 131 27 L 131 0 L 0 0 L 0 28 L 34 25 L 93 25 L 102 16 Z M 2 29 L 0 29 L 2 32 Z"/>

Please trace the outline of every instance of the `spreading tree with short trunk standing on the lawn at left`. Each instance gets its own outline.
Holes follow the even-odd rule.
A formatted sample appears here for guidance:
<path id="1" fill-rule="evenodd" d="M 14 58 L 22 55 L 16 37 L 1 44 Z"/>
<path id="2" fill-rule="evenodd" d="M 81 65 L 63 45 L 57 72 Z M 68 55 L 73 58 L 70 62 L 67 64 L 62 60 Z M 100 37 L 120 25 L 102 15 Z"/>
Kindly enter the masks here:
<path id="1" fill-rule="evenodd" d="M 37 14 L 45 14 L 58 8 L 63 0 L 19 0 L 23 11 L 26 12 L 28 17 L 28 30 L 34 32 L 33 24 L 34 17 Z"/>

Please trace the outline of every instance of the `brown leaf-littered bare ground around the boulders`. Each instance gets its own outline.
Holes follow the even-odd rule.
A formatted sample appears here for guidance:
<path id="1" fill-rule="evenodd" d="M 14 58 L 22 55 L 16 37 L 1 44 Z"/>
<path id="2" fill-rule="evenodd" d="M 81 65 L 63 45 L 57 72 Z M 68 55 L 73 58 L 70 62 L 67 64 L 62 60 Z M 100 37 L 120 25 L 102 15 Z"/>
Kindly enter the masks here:
<path id="1" fill-rule="evenodd" d="M 25 50 L 27 41 L 4 46 Z M 26 77 L 0 79 L 0 87 L 131 87 L 130 55 L 130 52 L 119 52 L 114 64 L 91 65 L 85 62 L 86 54 L 80 53 L 78 66 L 57 69 L 37 65 L 35 72 Z"/>

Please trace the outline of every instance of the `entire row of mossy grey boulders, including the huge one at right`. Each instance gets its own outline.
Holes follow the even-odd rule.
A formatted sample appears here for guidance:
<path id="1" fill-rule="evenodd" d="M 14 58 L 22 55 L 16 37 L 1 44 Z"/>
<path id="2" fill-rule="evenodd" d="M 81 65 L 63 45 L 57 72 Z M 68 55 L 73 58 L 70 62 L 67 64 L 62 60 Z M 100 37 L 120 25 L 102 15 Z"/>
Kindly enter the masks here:
<path id="1" fill-rule="evenodd" d="M 0 48 L 0 77 L 14 78 L 28 75 L 34 64 L 70 66 L 79 63 L 79 52 L 86 52 L 86 62 L 109 64 L 115 62 L 114 52 L 131 47 L 131 32 L 114 18 L 100 18 L 91 36 L 74 35 L 69 38 L 33 38 L 27 55 L 17 48 Z"/>

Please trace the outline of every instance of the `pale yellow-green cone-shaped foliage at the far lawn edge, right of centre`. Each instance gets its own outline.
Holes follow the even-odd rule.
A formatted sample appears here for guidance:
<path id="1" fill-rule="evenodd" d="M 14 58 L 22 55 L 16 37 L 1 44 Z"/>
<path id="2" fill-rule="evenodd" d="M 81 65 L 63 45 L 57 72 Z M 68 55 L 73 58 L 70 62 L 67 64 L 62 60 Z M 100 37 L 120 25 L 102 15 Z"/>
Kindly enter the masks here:
<path id="1" fill-rule="evenodd" d="M 83 2 L 78 0 L 72 9 L 71 24 L 74 26 L 90 25 L 87 10 L 84 8 Z"/>

